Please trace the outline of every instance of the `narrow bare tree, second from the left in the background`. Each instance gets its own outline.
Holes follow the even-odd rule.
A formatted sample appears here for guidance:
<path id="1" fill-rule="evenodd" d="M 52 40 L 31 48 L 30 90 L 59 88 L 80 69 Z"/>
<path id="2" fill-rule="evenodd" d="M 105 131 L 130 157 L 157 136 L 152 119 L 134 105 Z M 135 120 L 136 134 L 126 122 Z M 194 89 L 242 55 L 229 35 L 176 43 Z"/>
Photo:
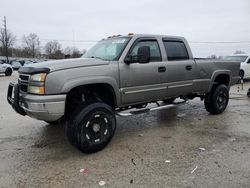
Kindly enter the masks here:
<path id="1" fill-rule="evenodd" d="M 30 33 L 28 36 L 23 36 L 24 50 L 30 57 L 38 57 L 40 55 L 40 41 L 35 33 Z"/>

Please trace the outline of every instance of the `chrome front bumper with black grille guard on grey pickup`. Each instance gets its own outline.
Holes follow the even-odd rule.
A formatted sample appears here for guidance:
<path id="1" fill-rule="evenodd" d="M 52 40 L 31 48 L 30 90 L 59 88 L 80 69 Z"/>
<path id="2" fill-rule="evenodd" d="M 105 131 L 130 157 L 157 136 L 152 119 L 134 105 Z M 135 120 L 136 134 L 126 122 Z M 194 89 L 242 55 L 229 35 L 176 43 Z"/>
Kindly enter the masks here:
<path id="1" fill-rule="evenodd" d="M 15 94 L 11 94 L 12 90 Z M 10 83 L 7 99 L 17 113 L 38 120 L 56 121 L 64 115 L 65 111 L 66 95 L 19 93 L 18 84 L 15 83 Z"/>

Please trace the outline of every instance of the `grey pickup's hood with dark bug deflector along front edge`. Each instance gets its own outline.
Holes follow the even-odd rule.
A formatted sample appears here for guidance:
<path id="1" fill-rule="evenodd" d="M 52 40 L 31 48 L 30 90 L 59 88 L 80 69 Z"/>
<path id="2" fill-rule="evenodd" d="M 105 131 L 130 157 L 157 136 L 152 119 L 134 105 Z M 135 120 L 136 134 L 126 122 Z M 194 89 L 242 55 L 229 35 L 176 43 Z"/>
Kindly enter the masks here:
<path id="1" fill-rule="evenodd" d="M 31 64 L 28 66 L 21 67 L 19 69 L 20 73 L 34 74 L 38 72 L 53 72 L 64 69 L 78 68 L 78 67 L 88 67 L 88 66 L 98 66 L 107 65 L 109 61 L 104 61 L 95 58 L 77 58 L 77 59 L 64 59 L 64 60 L 54 60 Z"/>

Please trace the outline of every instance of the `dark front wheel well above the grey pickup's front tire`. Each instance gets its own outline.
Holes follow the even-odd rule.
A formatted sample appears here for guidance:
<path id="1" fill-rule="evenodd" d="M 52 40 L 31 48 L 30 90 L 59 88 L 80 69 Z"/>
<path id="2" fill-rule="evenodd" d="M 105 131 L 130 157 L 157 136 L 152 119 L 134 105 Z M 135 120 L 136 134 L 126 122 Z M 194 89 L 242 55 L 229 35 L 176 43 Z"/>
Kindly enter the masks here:
<path id="1" fill-rule="evenodd" d="M 109 84 L 89 84 L 77 86 L 66 97 L 65 115 L 72 112 L 80 103 L 91 100 L 102 101 L 113 109 L 116 107 L 114 89 Z"/>

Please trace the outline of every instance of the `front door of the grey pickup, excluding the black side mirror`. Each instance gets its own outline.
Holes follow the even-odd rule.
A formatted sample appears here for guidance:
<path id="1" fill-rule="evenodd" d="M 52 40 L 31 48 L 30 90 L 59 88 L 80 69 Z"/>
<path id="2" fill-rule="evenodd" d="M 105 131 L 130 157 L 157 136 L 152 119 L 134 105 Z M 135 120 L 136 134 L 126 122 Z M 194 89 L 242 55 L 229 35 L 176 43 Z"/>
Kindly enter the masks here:
<path id="1" fill-rule="evenodd" d="M 166 67 L 155 38 L 139 38 L 127 55 L 137 55 L 140 46 L 149 46 L 150 62 L 119 62 L 122 104 L 135 104 L 161 99 L 166 94 Z"/>

